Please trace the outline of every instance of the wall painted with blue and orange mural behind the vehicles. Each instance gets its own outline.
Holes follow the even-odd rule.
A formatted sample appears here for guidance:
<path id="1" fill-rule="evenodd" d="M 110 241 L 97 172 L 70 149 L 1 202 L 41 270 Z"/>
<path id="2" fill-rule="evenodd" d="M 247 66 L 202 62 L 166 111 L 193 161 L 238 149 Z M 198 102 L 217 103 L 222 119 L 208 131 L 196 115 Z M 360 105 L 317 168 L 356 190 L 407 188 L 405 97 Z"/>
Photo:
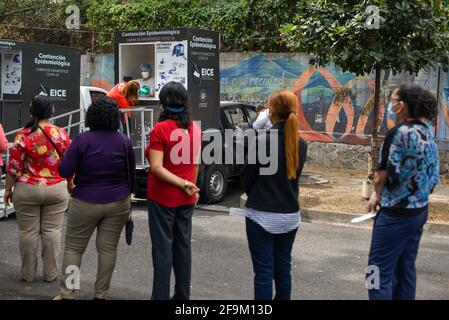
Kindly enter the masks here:
<path id="1" fill-rule="evenodd" d="M 113 55 L 82 57 L 81 83 L 109 90 L 114 84 Z M 271 92 L 292 90 L 298 96 L 302 135 L 309 141 L 369 143 L 373 123 L 374 75 L 356 76 L 329 65 L 315 68 L 307 56 L 287 53 L 222 53 L 220 56 L 221 100 L 262 103 Z M 383 135 L 394 126 L 386 117 L 392 88 L 416 83 L 439 95 L 439 117 L 434 128 L 438 139 L 449 147 L 449 74 L 438 71 L 418 75 L 393 75 L 381 79 Z M 438 89 L 439 85 L 439 89 Z"/>

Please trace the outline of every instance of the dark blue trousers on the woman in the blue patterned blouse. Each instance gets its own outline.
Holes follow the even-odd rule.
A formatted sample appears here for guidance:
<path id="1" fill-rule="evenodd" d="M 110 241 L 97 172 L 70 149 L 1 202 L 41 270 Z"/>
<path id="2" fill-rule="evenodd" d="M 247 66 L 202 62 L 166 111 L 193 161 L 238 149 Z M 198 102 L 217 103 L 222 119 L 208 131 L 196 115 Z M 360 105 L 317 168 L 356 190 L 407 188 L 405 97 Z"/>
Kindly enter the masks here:
<path id="1" fill-rule="evenodd" d="M 388 216 L 382 210 L 379 212 L 368 259 L 369 266 L 379 268 L 379 287 L 368 290 L 370 300 L 415 299 L 415 261 L 427 214 L 428 208 L 412 217 Z M 373 274 L 367 276 L 370 275 Z"/>

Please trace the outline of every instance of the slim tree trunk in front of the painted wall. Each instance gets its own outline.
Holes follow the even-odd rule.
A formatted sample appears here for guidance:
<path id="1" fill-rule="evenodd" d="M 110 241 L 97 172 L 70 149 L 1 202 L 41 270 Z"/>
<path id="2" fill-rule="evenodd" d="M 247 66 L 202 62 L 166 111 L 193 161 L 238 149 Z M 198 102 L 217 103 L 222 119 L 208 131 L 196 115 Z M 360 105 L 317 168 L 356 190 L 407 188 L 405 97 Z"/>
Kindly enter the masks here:
<path id="1" fill-rule="evenodd" d="M 382 68 L 376 64 L 376 82 L 374 87 L 374 121 L 373 129 L 371 131 L 371 152 L 368 157 L 368 180 L 373 181 L 374 172 L 376 172 L 377 162 L 379 159 L 380 141 L 379 133 L 379 104 L 380 104 L 380 74 Z"/>

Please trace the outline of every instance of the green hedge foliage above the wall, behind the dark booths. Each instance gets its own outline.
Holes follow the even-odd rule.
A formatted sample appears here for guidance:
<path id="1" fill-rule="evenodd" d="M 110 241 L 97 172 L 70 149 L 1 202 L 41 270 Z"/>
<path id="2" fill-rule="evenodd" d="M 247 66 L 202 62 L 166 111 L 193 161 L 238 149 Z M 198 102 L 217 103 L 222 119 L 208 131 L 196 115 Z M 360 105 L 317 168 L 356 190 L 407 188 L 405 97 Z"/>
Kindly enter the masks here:
<path id="1" fill-rule="evenodd" d="M 12 2 L 12 3 L 11 3 Z M 195 27 L 222 35 L 224 51 L 286 51 L 279 27 L 292 21 L 293 0 L 11 0 L 0 2 L 0 37 L 112 52 L 116 30 Z M 81 29 L 95 33 L 39 30 L 65 29 L 65 8 L 81 9 Z M 15 8 L 10 10 L 8 8 Z M 21 9 L 29 10 L 21 10 Z M 31 8 L 38 8 L 37 10 Z M 12 13 L 11 13 L 12 12 Z M 14 25 L 2 27 L 1 24 Z M 23 28 L 19 28 L 19 27 Z M 26 29 L 25 27 L 28 27 Z"/>

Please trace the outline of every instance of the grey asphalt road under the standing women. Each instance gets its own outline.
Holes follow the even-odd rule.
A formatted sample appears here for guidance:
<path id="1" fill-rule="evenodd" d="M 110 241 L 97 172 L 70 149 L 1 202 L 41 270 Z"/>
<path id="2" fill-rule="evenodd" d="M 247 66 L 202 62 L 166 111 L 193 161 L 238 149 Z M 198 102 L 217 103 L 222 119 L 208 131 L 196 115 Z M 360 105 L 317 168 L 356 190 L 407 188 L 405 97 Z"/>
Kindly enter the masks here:
<path id="1" fill-rule="evenodd" d="M 152 266 L 144 203 L 134 205 L 134 239 L 123 235 L 118 249 L 111 299 L 148 299 Z M 364 271 L 371 231 L 347 226 L 303 223 L 293 249 L 294 299 L 367 299 Z M 193 219 L 192 299 L 252 299 L 252 268 L 244 220 L 197 210 Z M 40 262 L 41 263 L 41 262 Z M 78 298 L 91 299 L 97 256 L 91 240 L 81 268 Z M 449 299 L 449 238 L 425 234 L 418 261 L 418 299 Z M 49 299 L 58 283 L 20 278 L 14 217 L 0 221 L 0 299 Z"/>

